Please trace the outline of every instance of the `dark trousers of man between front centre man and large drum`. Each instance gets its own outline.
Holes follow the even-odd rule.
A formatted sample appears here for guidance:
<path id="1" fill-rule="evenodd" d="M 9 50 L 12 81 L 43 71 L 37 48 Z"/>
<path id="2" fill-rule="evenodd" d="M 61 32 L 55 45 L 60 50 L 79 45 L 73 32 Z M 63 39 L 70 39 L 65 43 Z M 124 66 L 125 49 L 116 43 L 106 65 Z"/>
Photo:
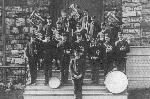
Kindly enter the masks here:
<path id="1" fill-rule="evenodd" d="M 91 59 L 90 63 L 91 63 L 91 80 L 92 82 L 98 83 L 100 62 L 99 60 Z"/>

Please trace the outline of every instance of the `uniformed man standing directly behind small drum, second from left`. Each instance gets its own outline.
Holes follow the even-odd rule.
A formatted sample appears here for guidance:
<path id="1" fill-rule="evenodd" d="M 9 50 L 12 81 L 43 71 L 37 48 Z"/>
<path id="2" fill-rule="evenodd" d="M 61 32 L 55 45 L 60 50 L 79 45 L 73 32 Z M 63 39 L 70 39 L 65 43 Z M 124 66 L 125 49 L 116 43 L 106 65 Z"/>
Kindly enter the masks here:
<path id="1" fill-rule="evenodd" d="M 52 61 L 55 57 L 57 49 L 57 41 L 50 39 L 50 35 L 46 36 L 46 42 L 43 43 L 44 49 L 44 71 L 45 71 L 45 85 L 48 84 L 49 78 L 52 77 Z"/>

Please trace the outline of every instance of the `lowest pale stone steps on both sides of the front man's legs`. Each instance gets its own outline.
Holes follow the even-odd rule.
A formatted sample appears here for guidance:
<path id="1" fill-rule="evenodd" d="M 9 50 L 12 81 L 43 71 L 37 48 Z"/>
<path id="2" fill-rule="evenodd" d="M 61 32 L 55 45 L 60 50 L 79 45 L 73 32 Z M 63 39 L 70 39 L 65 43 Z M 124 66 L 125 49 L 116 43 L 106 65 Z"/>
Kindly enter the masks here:
<path id="1" fill-rule="evenodd" d="M 127 99 L 128 93 L 112 94 L 105 86 L 83 86 L 83 99 Z M 49 86 L 27 86 L 24 99 L 74 99 L 73 86 L 51 89 Z"/>

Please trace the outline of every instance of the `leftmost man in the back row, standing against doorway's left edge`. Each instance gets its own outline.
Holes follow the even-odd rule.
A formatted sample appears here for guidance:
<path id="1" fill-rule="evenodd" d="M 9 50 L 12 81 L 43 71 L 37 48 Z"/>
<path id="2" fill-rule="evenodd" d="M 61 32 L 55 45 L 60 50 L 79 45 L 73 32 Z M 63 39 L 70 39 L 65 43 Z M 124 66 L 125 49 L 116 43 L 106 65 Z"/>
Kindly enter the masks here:
<path id="1" fill-rule="evenodd" d="M 47 18 L 47 24 L 46 24 L 46 35 L 50 36 L 50 39 L 52 40 L 53 37 L 53 31 L 52 31 L 52 19 L 50 16 Z"/>

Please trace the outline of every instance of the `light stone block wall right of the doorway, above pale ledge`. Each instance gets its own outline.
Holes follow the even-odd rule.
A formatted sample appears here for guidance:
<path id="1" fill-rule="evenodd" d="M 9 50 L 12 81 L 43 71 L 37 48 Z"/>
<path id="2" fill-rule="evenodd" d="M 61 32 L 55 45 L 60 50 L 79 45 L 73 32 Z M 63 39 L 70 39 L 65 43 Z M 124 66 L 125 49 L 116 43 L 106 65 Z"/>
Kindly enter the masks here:
<path id="1" fill-rule="evenodd" d="M 150 1 L 122 0 L 123 32 L 134 46 L 150 45 Z"/>

